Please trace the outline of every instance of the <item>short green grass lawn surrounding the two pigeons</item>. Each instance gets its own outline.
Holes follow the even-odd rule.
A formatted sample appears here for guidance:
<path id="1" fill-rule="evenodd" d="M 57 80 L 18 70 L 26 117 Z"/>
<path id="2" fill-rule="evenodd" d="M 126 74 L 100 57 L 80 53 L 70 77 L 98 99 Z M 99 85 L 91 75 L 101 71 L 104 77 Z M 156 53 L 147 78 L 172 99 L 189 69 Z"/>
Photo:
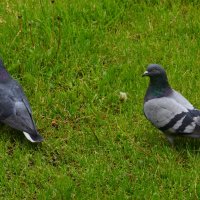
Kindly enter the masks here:
<path id="1" fill-rule="evenodd" d="M 149 63 L 200 108 L 200 4 L 173 2 L 0 2 L 0 55 L 45 138 L 1 125 L 1 199 L 200 197 L 200 142 L 172 148 L 142 111 Z"/>

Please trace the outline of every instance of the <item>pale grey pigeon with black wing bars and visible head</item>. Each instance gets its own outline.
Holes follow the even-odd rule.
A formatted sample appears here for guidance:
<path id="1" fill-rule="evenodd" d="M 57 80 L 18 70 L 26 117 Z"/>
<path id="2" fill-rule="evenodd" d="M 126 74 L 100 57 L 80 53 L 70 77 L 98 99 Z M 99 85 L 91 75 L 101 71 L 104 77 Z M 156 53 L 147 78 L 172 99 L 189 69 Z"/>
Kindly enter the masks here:
<path id="1" fill-rule="evenodd" d="M 200 138 L 200 110 L 169 85 L 165 70 L 151 64 L 143 76 L 150 83 L 144 97 L 146 118 L 161 130 L 173 145 L 177 136 Z"/>

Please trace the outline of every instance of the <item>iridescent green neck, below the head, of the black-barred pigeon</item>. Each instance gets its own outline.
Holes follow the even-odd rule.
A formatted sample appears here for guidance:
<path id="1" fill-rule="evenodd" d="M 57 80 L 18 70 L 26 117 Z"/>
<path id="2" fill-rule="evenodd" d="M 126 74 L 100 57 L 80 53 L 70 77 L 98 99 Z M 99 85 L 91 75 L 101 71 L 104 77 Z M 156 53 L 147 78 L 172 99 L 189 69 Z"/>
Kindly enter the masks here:
<path id="1" fill-rule="evenodd" d="M 150 77 L 150 83 L 145 96 L 145 101 L 168 96 L 171 92 L 172 89 L 166 77 Z"/>

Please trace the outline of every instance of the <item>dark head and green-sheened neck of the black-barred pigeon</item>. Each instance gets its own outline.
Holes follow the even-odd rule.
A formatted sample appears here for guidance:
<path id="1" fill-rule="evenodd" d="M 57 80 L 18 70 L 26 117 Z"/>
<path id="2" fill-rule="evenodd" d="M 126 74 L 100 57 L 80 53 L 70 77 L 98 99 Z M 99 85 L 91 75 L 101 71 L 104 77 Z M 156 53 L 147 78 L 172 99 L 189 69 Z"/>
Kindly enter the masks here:
<path id="1" fill-rule="evenodd" d="M 167 74 L 160 65 L 150 64 L 143 76 L 149 76 L 150 78 L 145 100 L 166 96 L 171 93 L 172 90 L 167 79 Z"/>

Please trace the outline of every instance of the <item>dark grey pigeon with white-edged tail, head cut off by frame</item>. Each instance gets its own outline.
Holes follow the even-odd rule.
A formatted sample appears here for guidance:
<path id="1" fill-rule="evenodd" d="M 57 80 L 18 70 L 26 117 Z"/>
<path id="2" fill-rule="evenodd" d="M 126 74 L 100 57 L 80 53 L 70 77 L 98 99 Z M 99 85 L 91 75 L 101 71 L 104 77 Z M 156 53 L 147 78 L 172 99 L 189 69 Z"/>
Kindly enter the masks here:
<path id="1" fill-rule="evenodd" d="M 0 122 L 22 131 L 31 142 L 42 142 L 37 132 L 29 102 L 19 85 L 0 60 Z"/>

